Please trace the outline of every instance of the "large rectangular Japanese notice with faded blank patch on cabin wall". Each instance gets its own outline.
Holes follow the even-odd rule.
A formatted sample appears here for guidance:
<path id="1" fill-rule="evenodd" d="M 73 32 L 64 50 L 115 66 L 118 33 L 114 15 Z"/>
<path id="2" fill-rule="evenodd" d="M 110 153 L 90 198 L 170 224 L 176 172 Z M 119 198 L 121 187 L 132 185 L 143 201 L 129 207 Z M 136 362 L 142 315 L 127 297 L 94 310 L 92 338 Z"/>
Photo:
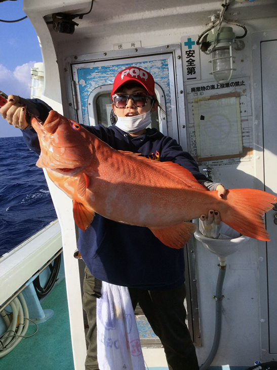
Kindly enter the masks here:
<path id="1" fill-rule="evenodd" d="M 225 84 L 187 81 L 186 106 L 190 153 L 201 165 L 251 161 L 249 77 L 234 78 Z"/>

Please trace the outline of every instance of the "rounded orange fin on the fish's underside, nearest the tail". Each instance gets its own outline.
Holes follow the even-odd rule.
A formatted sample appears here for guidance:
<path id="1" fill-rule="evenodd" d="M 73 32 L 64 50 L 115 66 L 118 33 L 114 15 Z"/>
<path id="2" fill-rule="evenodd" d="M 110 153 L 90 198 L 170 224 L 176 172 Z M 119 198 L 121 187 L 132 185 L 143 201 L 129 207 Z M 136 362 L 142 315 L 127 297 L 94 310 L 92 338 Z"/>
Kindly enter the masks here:
<path id="1" fill-rule="evenodd" d="M 189 241 L 196 229 L 196 225 L 190 222 L 183 222 L 182 224 L 161 229 L 149 229 L 163 244 L 170 248 L 180 249 Z"/>

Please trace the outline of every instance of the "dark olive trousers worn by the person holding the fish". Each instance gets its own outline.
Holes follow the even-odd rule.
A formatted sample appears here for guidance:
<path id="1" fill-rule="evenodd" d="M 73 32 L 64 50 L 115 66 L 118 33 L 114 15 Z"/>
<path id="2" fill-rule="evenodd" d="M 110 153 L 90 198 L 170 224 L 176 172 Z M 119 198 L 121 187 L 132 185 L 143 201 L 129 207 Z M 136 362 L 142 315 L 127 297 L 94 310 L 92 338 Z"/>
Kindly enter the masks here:
<path id="1" fill-rule="evenodd" d="M 87 312 L 89 331 L 86 370 L 98 370 L 96 336 L 96 298 L 92 295 L 94 278 L 85 269 L 83 307 Z M 129 288 L 132 305 L 139 303 L 154 333 L 160 338 L 169 370 L 198 370 L 196 353 L 185 324 L 185 285 L 171 290 Z"/>

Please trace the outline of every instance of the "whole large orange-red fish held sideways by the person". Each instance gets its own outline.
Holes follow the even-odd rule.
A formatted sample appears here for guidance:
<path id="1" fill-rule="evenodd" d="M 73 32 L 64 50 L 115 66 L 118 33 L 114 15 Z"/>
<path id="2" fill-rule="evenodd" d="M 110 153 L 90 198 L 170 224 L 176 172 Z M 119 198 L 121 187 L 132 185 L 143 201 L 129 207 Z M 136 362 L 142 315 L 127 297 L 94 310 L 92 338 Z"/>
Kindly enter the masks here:
<path id="1" fill-rule="evenodd" d="M 239 233 L 269 240 L 263 214 L 277 198 L 251 189 L 228 190 L 224 199 L 207 191 L 192 174 L 172 162 L 156 162 L 112 149 L 80 124 L 51 111 L 41 125 L 32 119 L 41 156 L 36 165 L 73 200 L 82 230 L 95 212 L 114 221 L 149 228 L 164 244 L 181 248 L 195 225 L 186 220 L 220 212 Z"/>

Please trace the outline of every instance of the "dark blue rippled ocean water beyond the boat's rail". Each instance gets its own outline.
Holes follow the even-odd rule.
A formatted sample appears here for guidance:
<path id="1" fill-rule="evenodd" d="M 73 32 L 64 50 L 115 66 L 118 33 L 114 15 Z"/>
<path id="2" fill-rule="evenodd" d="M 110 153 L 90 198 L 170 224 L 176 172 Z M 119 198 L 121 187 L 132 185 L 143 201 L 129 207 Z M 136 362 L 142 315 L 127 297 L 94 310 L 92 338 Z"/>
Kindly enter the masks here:
<path id="1" fill-rule="evenodd" d="M 23 137 L 0 138 L 0 256 L 57 218 L 38 156 Z"/>

